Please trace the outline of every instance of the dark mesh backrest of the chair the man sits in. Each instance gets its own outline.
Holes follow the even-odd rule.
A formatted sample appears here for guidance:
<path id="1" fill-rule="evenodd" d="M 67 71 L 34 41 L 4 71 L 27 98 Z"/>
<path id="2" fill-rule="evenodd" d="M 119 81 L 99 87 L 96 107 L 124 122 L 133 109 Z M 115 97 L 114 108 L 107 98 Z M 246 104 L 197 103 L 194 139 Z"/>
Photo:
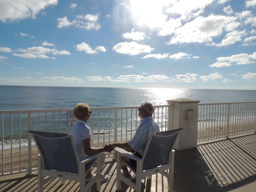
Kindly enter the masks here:
<path id="1" fill-rule="evenodd" d="M 183 128 L 154 133 L 150 136 L 144 155 L 143 170 L 148 170 L 170 162 L 170 154 L 178 132 Z"/>

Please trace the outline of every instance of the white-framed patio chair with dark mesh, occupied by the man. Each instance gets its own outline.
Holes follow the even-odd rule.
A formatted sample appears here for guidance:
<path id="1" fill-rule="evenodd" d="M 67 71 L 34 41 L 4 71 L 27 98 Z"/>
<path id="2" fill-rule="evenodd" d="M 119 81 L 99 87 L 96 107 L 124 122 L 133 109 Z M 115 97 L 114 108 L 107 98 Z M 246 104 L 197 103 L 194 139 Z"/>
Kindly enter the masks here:
<path id="1" fill-rule="evenodd" d="M 168 178 L 168 191 L 173 191 L 173 174 L 174 174 L 174 142 L 178 132 L 183 128 L 158 132 L 150 135 L 146 149 L 142 158 L 127 152 L 122 148 L 115 148 L 117 152 L 116 167 L 116 189 L 121 189 L 121 180 L 136 192 L 141 191 L 141 180 L 148 177 L 151 179 L 153 174 L 160 173 Z M 121 161 L 121 155 L 136 160 L 137 165 L 133 166 L 129 162 Z M 122 164 L 122 165 L 121 165 Z M 121 166 L 127 165 L 135 174 L 136 182 L 129 180 L 121 174 Z"/>

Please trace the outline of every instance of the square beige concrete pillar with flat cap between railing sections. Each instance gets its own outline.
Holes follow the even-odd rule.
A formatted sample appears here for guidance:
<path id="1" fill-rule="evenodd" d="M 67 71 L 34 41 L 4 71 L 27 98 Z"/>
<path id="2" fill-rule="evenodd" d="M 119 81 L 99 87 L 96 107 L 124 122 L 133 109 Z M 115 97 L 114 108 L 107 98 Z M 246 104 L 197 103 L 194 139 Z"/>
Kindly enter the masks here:
<path id="1" fill-rule="evenodd" d="M 172 110 L 172 129 L 184 128 L 179 132 L 174 149 L 183 150 L 197 147 L 198 103 L 191 99 L 167 100 L 174 105 Z"/>

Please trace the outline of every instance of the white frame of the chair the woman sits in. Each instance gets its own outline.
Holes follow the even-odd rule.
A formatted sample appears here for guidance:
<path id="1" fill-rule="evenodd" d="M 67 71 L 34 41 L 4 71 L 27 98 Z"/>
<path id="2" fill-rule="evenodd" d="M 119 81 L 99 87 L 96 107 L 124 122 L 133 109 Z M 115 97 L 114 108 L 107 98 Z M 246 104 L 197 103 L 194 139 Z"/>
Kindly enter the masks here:
<path id="1" fill-rule="evenodd" d="M 80 182 L 80 192 L 87 192 L 90 190 L 90 188 L 97 182 L 97 191 L 100 191 L 101 188 L 101 158 L 98 154 L 95 155 L 89 155 L 82 161 L 79 160 L 78 153 L 76 150 L 76 145 L 74 143 L 74 138 L 70 134 L 59 134 L 62 135 L 58 138 L 51 138 L 44 136 L 46 132 L 39 132 L 39 131 L 29 131 L 29 133 L 32 134 L 34 141 L 36 142 L 36 146 L 38 148 L 38 192 L 43 192 L 43 185 L 50 180 L 54 178 L 60 178 L 61 184 L 65 183 L 65 180 L 73 180 Z M 43 134 L 43 136 L 41 135 Z M 48 133 L 48 134 L 54 134 L 54 133 Z M 37 138 L 47 139 L 47 140 L 54 140 L 54 139 L 70 139 L 72 148 L 74 149 L 74 155 L 76 158 L 77 163 L 77 173 L 71 173 L 71 172 L 63 172 L 60 170 L 55 169 L 47 169 L 45 165 L 45 157 L 44 157 L 44 151 L 42 147 L 40 146 L 40 143 L 38 142 Z M 72 154 L 67 154 L 72 155 Z M 97 161 L 97 163 L 96 163 Z M 92 168 L 92 166 L 97 167 L 96 176 L 90 180 L 90 182 L 85 183 L 85 175 L 88 173 L 88 171 Z M 86 169 L 86 165 L 88 166 Z M 44 176 L 46 176 L 44 178 Z"/>

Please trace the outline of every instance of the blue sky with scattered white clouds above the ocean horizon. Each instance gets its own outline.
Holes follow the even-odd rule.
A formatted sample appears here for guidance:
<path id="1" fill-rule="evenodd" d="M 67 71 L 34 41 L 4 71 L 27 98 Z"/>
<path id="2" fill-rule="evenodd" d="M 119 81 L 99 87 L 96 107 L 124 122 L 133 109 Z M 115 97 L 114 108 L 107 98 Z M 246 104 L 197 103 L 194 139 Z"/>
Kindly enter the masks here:
<path id="1" fill-rule="evenodd" d="M 256 0 L 1 0 L 0 85 L 256 89 Z"/>

